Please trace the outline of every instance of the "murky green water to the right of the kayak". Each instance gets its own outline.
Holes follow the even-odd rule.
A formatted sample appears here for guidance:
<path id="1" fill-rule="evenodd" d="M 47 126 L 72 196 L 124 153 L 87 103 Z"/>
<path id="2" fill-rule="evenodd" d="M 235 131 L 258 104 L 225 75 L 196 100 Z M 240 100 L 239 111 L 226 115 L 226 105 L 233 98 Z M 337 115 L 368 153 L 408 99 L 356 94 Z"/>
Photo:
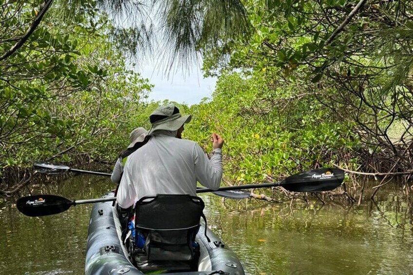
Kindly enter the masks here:
<path id="1" fill-rule="evenodd" d="M 242 203 L 208 197 L 207 217 L 249 274 L 411 274 L 412 205 Z"/>

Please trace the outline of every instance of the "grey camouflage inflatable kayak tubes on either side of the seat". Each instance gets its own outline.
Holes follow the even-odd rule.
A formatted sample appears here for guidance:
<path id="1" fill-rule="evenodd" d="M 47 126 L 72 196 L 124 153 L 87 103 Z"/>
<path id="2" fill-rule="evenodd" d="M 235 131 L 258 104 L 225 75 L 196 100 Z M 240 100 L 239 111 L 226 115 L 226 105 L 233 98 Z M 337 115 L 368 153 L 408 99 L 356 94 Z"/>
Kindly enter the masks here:
<path id="1" fill-rule="evenodd" d="M 111 198 L 113 196 L 114 194 L 111 192 L 105 194 L 103 198 Z M 93 206 L 89 223 L 85 274 L 143 275 L 145 273 L 131 263 L 128 257 L 128 250 L 121 241 L 121 225 L 116 208 L 112 204 L 112 202 L 99 202 Z M 205 232 L 210 241 L 205 236 Z M 204 223 L 201 223 L 195 241 L 200 248 L 197 270 L 162 274 L 244 275 L 243 266 L 235 253 L 209 228 L 205 231 Z"/>

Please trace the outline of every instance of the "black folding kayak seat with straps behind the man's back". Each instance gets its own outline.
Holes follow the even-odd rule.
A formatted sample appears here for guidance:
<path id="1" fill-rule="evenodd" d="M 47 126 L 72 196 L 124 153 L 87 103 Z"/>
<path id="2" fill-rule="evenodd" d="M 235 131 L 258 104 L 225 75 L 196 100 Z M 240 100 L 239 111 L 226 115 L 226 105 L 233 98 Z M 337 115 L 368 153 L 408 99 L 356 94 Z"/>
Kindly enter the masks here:
<path id="1" fill-rule="evenodd" d="M 145 236 L 143 250 L 147 256 L 140 269 L 190 269 L 199 257 L 195 236 L 204 207 L 201 198 L 190 195 L 158 194 L 136 202 L 135 230 Z"/>

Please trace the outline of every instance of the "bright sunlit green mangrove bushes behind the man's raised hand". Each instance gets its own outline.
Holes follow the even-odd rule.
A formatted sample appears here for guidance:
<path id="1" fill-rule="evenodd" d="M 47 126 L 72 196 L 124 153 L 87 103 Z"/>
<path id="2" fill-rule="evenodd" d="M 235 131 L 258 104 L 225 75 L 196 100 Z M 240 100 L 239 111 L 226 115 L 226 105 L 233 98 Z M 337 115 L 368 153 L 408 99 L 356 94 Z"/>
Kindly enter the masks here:
<path id="1" fill-rule="evenodd" d="M 224 136 L 226 179 L 232 184 L 271 181 L 330 162 L 356 161 L 359 143 L 352 125 L 335 121 L 314 96 L 296 97 L 299 85 L 269 89 L 266 77 L 259 72 L 223 75 L 212 100 L 189 110 L 194 119 L 186 136 L 208 149 L 210 132 Z"/>

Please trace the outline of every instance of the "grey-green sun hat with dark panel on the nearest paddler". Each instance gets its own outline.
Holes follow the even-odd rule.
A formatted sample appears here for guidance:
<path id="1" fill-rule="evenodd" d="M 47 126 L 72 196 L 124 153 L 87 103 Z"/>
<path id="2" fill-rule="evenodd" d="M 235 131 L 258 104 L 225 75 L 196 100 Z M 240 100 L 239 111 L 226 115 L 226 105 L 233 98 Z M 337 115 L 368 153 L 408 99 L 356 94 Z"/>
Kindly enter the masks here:
<path id="1" fill-rule="evenodd" d="M 152 123 L 152 128 L 150 128 L 148 135 L 152 134 L 156 130 L 176 131 L 185 123 L 191 121 L 191 118 L 192 116 L 189 114 L 182 116 L 179 109 L 173 104 L 160 106 L 156 108 L 149 116 L 150 123 Z"/>

